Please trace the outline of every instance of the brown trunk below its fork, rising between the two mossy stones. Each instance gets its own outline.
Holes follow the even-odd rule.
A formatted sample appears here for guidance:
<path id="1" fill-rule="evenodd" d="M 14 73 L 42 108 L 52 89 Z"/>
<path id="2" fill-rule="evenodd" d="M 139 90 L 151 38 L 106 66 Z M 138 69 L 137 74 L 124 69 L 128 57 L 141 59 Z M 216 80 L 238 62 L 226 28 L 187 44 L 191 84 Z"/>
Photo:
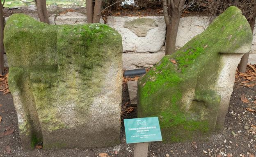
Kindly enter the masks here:
<path id="1" fill-rule="evenodd" d="M 178 26 L 180 23 L 181 13 L 172 14 L 169 24 L 166 26 L 166 42 L 165 55 L 170 55 L 175 52 L 176 38 Z"/>

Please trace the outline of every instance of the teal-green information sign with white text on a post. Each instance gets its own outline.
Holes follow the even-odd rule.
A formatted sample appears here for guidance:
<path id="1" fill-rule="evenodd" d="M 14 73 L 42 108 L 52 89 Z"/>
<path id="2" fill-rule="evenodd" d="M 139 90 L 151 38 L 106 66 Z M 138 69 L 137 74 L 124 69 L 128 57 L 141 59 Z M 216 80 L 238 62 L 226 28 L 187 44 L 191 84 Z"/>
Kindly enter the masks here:
<path id="1" fill-rule="evenodd" d="M 162 141 L 158 117 L 124 119 L 126 143 Z"/>

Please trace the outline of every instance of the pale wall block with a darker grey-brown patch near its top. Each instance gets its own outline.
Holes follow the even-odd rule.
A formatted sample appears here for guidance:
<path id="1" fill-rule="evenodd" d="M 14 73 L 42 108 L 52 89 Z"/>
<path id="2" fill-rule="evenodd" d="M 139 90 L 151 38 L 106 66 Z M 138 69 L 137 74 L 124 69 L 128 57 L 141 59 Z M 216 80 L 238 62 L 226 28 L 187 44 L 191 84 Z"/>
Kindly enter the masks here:
<path id="1" fill-rule="evenodd" d="M 122 35 L 124 52 L 157 52 L 165 43 L 166 28 L 162 16 L 109 16 L 107 24 Z"/>

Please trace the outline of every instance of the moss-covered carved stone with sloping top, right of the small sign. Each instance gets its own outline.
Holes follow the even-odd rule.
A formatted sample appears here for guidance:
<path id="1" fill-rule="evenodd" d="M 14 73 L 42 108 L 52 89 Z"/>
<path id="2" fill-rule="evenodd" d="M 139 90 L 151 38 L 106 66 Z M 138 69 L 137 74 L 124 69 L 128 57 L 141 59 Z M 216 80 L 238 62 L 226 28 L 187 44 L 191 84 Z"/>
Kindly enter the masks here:
<path id="1" fill-rule="evenodd" d="M 165 142 L 199 140 L 221 130 L 236 67 L 251 41 L 246 18 L 229 7 L 138 81 L 138 117 L 158 116 Z"/>

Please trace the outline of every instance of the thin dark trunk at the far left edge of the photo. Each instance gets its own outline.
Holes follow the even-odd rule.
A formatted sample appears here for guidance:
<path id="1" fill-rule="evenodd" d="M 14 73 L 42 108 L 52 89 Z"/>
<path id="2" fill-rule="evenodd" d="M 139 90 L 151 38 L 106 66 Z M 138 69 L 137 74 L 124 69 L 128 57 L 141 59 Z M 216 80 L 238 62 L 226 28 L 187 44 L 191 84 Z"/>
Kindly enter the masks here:
<path id="1" fill-rule="evenodd" d="M 4 28 L 5 19 L 2 10 L 2 2 L 0 1 L 0 74 L 4 74 Z"/>

